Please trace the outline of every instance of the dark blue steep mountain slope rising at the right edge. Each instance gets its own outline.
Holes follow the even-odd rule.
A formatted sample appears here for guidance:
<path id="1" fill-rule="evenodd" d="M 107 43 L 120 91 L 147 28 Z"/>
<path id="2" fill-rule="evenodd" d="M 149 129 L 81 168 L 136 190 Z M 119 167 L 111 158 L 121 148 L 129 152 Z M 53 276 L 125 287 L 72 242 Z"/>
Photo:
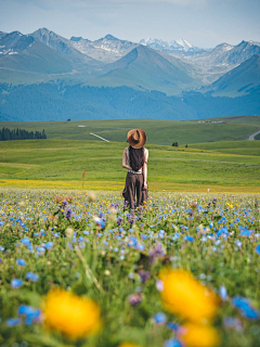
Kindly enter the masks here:
<path id="1" fill-rule="evenodd" d="M 203 91 L 211 91 L 214 95 L 244 95 L 260 90 L 260 55 L 255 54 L 239 66 L 223 75 Z"/>

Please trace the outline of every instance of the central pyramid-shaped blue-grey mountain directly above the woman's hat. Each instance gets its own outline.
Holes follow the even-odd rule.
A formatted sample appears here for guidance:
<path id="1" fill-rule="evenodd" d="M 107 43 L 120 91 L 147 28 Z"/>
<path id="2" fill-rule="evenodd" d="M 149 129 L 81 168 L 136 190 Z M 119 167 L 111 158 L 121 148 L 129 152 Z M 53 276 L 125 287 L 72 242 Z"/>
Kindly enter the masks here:
<path id="1" fill-rule="evenodd" d="M 168 94 L 178 94 L 183 89 L 198 85 L 188 76 L 184 66 L 176 66 L 155 50 L 142 44 L 117 62 L 106 65 L 104 70 L 107 73 L 98 78 L 99 85 L 135 86 Z"/>

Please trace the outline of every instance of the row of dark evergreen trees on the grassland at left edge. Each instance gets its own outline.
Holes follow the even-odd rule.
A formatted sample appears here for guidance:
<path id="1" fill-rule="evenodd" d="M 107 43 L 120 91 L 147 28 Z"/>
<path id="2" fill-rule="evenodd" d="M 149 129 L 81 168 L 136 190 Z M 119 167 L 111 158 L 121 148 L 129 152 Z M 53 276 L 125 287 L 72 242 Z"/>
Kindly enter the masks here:
<path id="1" fill-rule="evenodd" d="M 27 131 L 24 129 L 0 129 L 0 141 L 9 140 L 34 140 L 34 139 L 47 139 L 44 129 L 41 131 Z"/>

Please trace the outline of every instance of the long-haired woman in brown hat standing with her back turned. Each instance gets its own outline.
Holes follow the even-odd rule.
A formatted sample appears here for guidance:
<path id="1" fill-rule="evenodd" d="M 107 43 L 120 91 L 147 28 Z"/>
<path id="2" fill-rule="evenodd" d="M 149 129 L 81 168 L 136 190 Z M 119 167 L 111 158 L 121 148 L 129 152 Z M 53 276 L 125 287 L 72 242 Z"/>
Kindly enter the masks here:
<path id="1" fill-rule="evenodd" d="M 144 147 L 145 142 L 145 131 L 142 129 L 132 129 L 128 132 L 129 147 L 122 152 L 122 167 L 128 169 L 122 195 L 125 201 L 128 201 L 130 208 L 147 202 L 148 150 Z"/>

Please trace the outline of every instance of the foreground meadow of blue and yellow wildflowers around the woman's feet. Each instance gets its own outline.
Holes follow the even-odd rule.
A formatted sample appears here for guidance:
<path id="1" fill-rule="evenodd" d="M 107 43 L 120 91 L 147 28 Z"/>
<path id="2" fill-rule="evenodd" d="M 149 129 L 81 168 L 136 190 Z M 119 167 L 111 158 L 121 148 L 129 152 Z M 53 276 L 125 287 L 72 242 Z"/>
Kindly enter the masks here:
<path id="1" fill-rule="evenodd" d="M 260 346 L 259 204 L 1 189 L 0 345 Z"/>

